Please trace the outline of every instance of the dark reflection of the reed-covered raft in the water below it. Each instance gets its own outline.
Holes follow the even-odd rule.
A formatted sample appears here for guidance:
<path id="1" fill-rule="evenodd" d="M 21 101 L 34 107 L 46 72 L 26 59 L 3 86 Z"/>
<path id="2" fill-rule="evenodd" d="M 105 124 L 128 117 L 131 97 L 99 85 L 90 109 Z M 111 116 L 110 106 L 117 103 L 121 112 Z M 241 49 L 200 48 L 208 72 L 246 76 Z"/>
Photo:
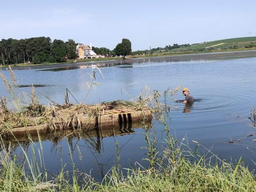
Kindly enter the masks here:
<path id="1" fill-rule="evenodd" d="M 106 137 L 116 137 L 117 135 L 124 136 L 129 134 L 134 134 L 134 129 L 141 127 L 151 127 L 151 120 L 147 121 L 146 124 L 141 122 L 123 122 L 122 124 L 111 126 L 111 127 L 97 127 L 92 130 L 62 130 L 62 131 L 52 131 L 50 133 L 41 134 L 31 134 L 31 135 L 9 135 L 9 138 L 5 140 L 6 143 L 11 142 L 13 146 L 27 146 L 30 145 L 31 141 L 51 141 L 52 148 L 51 151 L 57 150 L 59 143 L 63 139 L 67 139 L 70 145 L 71 153 L 74 152 L 76 146 L 73 146 L 73 140 L 83 140 L 85 141 L 87 147 L 98 154 L 101 153 L 102 143 L 101 140 Z M 9 146 L 9 145 L 6 145 Z M 15 147 L 14 147 L 15 148 Z M 27 147 L 26 147 L 27 148 Z"/>

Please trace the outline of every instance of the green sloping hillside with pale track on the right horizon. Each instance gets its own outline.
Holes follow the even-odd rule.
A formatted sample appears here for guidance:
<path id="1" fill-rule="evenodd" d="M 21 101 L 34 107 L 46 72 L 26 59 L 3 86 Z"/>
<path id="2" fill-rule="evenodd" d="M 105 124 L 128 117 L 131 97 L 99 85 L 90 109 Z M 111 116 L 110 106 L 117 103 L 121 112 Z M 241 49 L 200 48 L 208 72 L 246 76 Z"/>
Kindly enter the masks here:
<path id="1" fill-rule="evenodd" d="M 187 47 L 180 47 L 172 49 L 171 52 L 179 51 L 205 51 L 207 50 L 225 50 L 225 49 L 238 49 L 238 48 L 252 48 L 256 47 L 256 37 L 240 37 L 221 39 L 212 42 L 205 42 L 198 45 L 191 45 Z"/>

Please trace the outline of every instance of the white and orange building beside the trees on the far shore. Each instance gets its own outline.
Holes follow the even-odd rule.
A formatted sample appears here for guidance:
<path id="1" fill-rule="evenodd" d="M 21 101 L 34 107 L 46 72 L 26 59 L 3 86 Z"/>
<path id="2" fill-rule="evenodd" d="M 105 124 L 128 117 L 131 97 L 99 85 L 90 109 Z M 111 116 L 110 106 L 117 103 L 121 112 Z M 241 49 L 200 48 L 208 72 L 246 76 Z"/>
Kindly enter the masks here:
<path id="1" fill-rule="evenodd" d="M 77 59 L 96 58 L 97 54 L 92 50 L 92 44 L 90 46 L 78 43 L 76 46 Z"/>

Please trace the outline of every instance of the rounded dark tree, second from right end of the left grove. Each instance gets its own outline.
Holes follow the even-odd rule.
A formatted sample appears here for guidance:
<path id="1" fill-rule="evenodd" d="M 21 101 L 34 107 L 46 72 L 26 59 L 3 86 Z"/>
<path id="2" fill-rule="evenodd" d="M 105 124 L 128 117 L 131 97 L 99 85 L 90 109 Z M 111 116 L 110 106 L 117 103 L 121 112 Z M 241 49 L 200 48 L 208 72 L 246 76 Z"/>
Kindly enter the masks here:
<path id="1" fill-rule="evenodd" d="M 56 62 L 66 61 L 66 44 L 62 40 L 54 39 L 52 43 L 51 56 Z"/>

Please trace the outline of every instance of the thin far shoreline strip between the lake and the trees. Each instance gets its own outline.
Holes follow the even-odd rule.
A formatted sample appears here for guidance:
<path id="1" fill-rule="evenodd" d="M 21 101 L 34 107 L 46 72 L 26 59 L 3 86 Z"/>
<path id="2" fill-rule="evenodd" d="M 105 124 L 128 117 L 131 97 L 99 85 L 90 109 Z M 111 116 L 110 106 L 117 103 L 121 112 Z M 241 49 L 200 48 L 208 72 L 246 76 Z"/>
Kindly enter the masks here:
<path id="1" fill-rule="evenodd" d="M 256 50 L 249 51 L 230 51 L 230 52 L 213 52 L 213 53 L 195 53 L 195 54 L 180 54 L 180 55 L 166 55 L 157 57 L 142 57 L 125 60 L 102 60 L 102 61 L 87 61 L 87 62 L 75 62 L 75 63 L 57 63 L 46 65 L 29 65 L 12 67 L 13 70 L 25 70 L 25 69 L 50 69 L 50 68 L 67 68 L 67 67 L 108 67 L 114 65 L 131 65 L 132 63 L 142 63 L 145 60 L 157 61 L 166 60 L 169 62 L 189 61 L 189 60 L 218 60 L 218 59 L 240 59 L 256 57 Z M 96 65 L 95 65 L 96 64 Z M 1 70 L 8 70 L 8 67 L 2 67 Z"/>

